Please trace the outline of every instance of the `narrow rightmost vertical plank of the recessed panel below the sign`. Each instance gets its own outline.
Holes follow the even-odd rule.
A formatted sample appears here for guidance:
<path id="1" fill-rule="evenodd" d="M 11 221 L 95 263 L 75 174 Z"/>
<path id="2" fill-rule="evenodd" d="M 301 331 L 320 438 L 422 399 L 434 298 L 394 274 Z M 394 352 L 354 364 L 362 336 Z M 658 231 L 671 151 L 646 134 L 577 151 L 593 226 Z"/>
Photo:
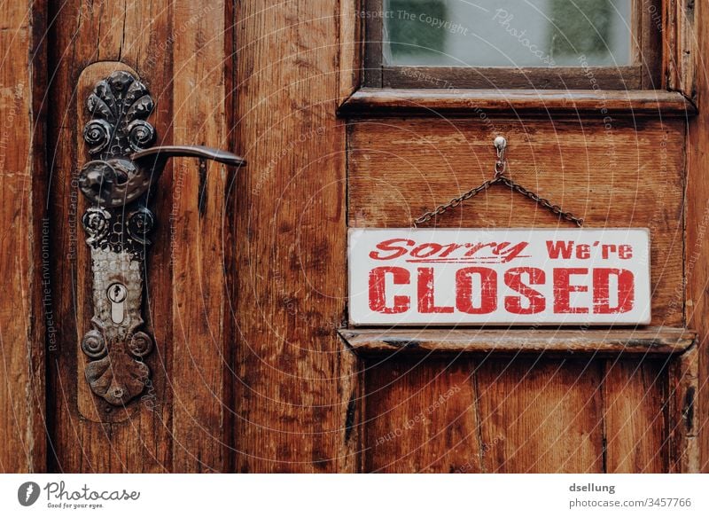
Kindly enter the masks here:
<path id="1" fill-rule="evenodd" d="M 604 373 L 606 471 L 667 471 L 664 361 L 609 360 Z"/>

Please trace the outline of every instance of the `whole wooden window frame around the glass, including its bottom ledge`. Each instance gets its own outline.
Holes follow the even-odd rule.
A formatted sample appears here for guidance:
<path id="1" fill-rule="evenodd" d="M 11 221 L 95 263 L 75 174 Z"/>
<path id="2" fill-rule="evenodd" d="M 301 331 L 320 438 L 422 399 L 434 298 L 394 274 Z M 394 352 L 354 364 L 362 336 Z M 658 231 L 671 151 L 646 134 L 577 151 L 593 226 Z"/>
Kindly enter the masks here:
<path id="1" fill-rule="evenodd" d="M 587 116 L 608 114 L 631 114 L 632 116 L 693 116 L 696 106 L 697 27 L 694 24 L 693 4 L 682 0 L 634 0 L 645 5 L 642 10 L 645 20 L 638 27 L 647 27 L 661 20 L 662 30 L 652 39 L 651 50 L 645 51 L 644 59 L 651 61 L 647 74 L 635 72 L 622 75 L 625 86 L 612 89 L 615 79 L 609 68 L 591 69 L 596 77 L 596 86 L 588 82 L 585 74 L 581 82 L 565 75 L 568 69 L 559 69 L 559 77 L 565 82 L 547 81 L 539 86 L 530 86 L 534 74 L 548 74 L 548 68 L 495 70 L 495 87 L 472 88 L 475 83 L 446 78 L 448 67 L 433 67 L 431 72 L 442 73 L 440 81 L 428 74 L 428 67 L 400 67 L 394 75 L 384 74 L 381 80 L 371 74 L 372 52 L 381 56 L 367 43 L 367 39 L 381 42 L 381 20 L 367 16 L 368 9 L 379 9 L 382 0 L 343 0 L 340 3 L 340 88 L 339 110 L 342 116 L 371 116 L 376 114 L 470 114 L 483 109 L 486 113 L 511 113 L 546 115 L 584 114 Z M 653 5 L 654 7 L 648 7 Z M 658 11 L 659 10 L 659 11 Z M 636 17 L 638 18 L 638 17 Z M 642 18 L 642 17 L 641 17 Z M 643 25 L 644 24 L 644 25 Z M 374 33 L 372 31 L 375 31 Z M 376 31 L 379 32 L 377 38 Z M 646 38 L 647 40 L 647 38 Z M 375 71 L 377 68 L 375 67 Z M 405 70 L 405 71 L 404 71 Z M 454 70 L 454 74 L 485 74 L 481 68 Z M 525 77 L 528 73 L 529 76 Z M 407 82 L 397 82 L 396 77 L 407 74 Z M 417 79 L 415 75 L 419 76 Z M 503 76 L 506 78 L 503 81 Z M 411 76 L 414 77 L 411 77 Z M 644 76 L 644 79 L 643 79 Z M 520 88 L 520 78 L 526 88 Z M 446 82 L 448 81 L 448 82 Z M 466 81 L 468 81 L 466 79 Z M 643 82 L 644 81 L 644 82 Z M 585 86 L 583 85 L 585 82 Z M 445 86 L 445 88 L 441 86 Z M 616 84 L 617 85 L 617 84 Z M 553 88 L 557 86 L 557 88 Z M 540 112 L 541 110 L 541 112 Z"/>

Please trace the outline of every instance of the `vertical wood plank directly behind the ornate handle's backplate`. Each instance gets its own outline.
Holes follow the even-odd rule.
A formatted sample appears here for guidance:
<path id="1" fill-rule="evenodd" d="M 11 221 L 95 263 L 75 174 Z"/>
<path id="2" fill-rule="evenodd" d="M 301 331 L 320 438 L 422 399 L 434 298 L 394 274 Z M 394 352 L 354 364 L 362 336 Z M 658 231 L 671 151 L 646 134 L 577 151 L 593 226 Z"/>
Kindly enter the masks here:
<path id="1" fill-rule="evenodd" d="M 51 247 L 54 310 L 58 319 L 56 349 L 49 356 L 51 398 L 51 470 L 66 472 L 163 472 L 171 468 L 167 364 L 169 358 L 170 315 L 168 287 L 170 270 L 167 256 L 168 234 L 163 215 L 171 213 L 166 197 L 159 192 L 153 200 L 158 215 L 155 244 L 148 259 L 145 295 L 146 329 L 155 338 L 156 349 L 148 356 L 152 383 L 145 395 L 135 402 L 128 419 L 121 422 L 91 421 L 82 416 L 79 406 L 90 408 L 93 399 L 80 389 L 82 366 L 77 364 L 77 335 L 89 315 L 89 303 L 76 294 L 85 289 L 87 278 L 84 235 L 81 227 L 81 194 L 75 175 L 90 157 L 76 145 L 82 127 L 79 114 L 85 110 L 86 88 L 77 90 L 82 70 L 89 70 L 98 59 L 100 73 L 110 73 L 113 62 L 122 62 L 136 70 L 151 90 L 156 110 L 150 121 L 159 138 L 169 138 L 171 95 L 165 94 L 171 80 L 168 2 L 143 3 L 123 0 L 115 3 L 88 4 L 78 0 L 52 4 L 53 20 L 49 38 L 49 67 L 53 82 L 49 97 L 48 142 L 51 157 Z M 119 65 L 115 65 L 119 67 Z M 98 72 L 98 69 L 97 69 Z M 90 72 L 87 72 L 87 74 Z M 102 79 L 98 76 L 95 80 Z M 169 170 L 160 179 L 169 185 Z M 167 181 L 165 176 L 168 176 Z M 79 274 L 81 270 L 82 274 Z M 79 305 L 81 304 L 81 308 Z M 155 315 L 160 315 L 156 317 Z M 80 317 L 82 318 L 80 320 Z M 167 344 L 166 344 L 167 343 Z M 100 419 L 100 418 L 95 418 Z M 109 419 L 105 419 L 109 420 Z"/>

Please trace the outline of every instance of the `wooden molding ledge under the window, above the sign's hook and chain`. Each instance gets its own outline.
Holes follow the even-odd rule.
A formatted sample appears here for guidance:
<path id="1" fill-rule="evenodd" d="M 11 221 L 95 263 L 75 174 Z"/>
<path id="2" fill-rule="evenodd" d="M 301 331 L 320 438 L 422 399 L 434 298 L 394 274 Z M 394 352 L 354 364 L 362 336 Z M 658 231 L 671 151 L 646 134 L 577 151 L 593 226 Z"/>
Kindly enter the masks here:
<path id="1" fill-rule="evenodd" d="M 697 107 L 665 90 L 408 90 L 362 88 L 339 106 L 342 116 L 417 114 L 689 117 Z"/>

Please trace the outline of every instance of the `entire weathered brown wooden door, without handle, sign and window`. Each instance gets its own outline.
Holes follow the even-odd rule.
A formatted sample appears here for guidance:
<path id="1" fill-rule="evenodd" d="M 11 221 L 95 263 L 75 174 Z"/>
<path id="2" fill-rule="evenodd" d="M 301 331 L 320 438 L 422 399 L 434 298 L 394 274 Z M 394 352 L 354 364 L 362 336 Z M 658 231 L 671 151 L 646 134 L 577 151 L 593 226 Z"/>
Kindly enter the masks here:
<path id="1" fill-rule="evenodd" d="M 4 5 L 0 469 L 706 471 L 709 12 L 691 5 L 661 3 L 661 88 L 531 100 L 362 88 L 354 0 Z M 248 161 L 160 177 L 151 383 L 126 407 L 90 391 L 79 347 L 84 103 L 115 70 L 151 91 L 157 143 Z M 651 229 L 651 326 L 348 328 L 347 228 L 408 226 L 479 183 L 499 133 L 588 226 Z M 501 189 L 434 224 L 559 222 Z"/>

